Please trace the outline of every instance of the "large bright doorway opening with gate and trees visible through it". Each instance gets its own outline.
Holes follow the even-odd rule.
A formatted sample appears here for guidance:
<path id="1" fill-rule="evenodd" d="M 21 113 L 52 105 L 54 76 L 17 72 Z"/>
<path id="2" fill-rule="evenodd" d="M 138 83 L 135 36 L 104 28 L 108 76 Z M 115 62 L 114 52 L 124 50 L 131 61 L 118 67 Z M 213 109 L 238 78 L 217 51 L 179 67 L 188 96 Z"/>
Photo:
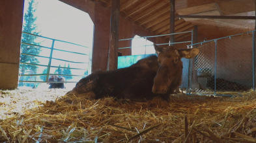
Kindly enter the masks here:
<path id="1" fill-rule="evenodd" d="M 57 0 L 25 0 L 23 14 L 19 88 L 63 83 L 72 89 L 91 73 L 89 14 Z"/>

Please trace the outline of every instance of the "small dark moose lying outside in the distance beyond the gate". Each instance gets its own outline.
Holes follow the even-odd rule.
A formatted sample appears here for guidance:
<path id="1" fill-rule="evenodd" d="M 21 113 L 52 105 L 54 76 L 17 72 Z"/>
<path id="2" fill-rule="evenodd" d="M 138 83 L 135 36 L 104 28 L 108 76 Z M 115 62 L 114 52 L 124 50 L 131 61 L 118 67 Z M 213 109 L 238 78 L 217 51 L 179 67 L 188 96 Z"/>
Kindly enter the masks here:
<path id="1" fill-rule="evenodd" d="M 65 82 L 65 78 L 64 77 L 60 77 L 57 75 L 51 75 L 49 80 L 48 80 L 48 84 L 50 84 L 49 89 L 64 89 L 64 83 Z M 60 83 L 57 83 L 60 82 Z"/>

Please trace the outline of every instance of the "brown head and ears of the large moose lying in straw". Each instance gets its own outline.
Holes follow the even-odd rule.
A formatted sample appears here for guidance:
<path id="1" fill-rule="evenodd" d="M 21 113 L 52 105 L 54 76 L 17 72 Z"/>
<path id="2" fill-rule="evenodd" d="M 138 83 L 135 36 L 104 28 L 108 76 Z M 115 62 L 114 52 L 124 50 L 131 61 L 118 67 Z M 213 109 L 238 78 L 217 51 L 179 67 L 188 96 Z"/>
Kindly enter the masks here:
<path id="1" fill-rule="evenodd" d="M 173 94 L 182 81 L 181 58 L 194 58 L 199 54 L 198 49 L 175 49 L 173 47 L 161 48 L 154 45 L 158 52 L 159 69 L 154 77 L 152 93 Z"/>

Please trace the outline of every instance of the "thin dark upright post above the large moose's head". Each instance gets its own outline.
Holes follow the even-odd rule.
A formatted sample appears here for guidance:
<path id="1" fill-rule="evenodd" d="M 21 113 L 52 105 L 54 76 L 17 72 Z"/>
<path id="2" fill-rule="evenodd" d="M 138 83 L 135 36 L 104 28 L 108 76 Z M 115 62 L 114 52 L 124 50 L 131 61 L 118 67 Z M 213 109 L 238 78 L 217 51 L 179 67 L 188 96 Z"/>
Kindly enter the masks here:
<path id="1" fill-rule="evenodd" d="M 170 33 L 175 29 L 175 0 L 170 0 Z M 175 42 L 175 35 L 170 35 L 170 43 Z M 174 44 L 171 44 L 174 45 Z"/>

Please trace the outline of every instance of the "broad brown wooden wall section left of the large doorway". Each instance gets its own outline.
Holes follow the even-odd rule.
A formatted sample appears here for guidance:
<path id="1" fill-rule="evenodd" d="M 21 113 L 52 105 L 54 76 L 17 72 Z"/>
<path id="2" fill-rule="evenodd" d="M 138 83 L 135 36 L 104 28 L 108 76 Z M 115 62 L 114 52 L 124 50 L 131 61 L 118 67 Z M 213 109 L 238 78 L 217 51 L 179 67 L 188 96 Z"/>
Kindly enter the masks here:
<path id="1" fill-rule="evenodd" d="M 0 89 L 18 87 L 24 0 L 0 1 Z"/>

